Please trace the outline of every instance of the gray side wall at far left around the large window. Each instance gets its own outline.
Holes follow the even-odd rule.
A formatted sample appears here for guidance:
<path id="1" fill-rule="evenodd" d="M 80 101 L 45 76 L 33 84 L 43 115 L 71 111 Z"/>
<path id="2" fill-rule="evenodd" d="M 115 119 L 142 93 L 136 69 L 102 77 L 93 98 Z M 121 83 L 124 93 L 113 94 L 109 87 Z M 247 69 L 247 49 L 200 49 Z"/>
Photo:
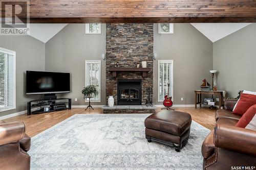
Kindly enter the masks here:
<path id="1" fill-rule="evenodd" d="M 31 36 L 0 36 L 0 47 L 16 52 L 16 109 L 0 116 L 26 110 L 26 102 L 39 95 L 26 95 L 26 70 L 45 70 L 45 43 Z"/>

